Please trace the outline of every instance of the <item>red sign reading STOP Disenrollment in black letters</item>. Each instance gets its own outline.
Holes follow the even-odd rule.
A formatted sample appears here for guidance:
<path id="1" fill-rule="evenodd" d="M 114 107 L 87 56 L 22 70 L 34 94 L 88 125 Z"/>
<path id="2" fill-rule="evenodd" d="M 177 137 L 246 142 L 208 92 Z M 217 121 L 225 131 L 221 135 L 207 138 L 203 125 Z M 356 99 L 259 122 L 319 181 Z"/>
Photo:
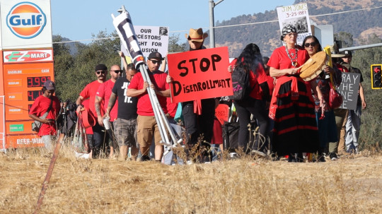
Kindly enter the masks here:
<path id="1" fill-rule="evenodd" d="M 173 102 L 233 95 L 228 47 L 168 54 Z"/>

